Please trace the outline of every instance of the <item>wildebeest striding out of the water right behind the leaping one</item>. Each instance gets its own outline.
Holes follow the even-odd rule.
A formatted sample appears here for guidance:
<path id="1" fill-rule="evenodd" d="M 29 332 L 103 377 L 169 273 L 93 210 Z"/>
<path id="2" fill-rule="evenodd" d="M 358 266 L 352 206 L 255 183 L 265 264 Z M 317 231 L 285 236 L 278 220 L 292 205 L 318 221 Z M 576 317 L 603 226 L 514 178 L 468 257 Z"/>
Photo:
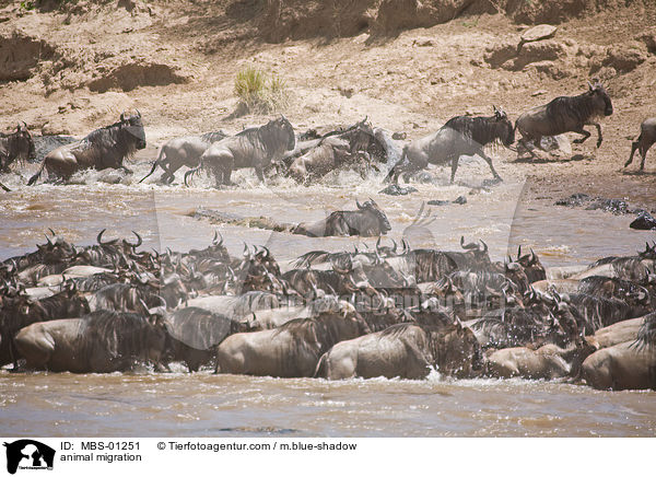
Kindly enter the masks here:
<path id="1" fill-rule="evenodd" d="M 515 130 L 505 112 L 494 107 L 494 116 L 450 118 L 438 131 L 411 141 L 403 148 L 401 159 L 391 167 L 386 179 L 398 182 L 399 174 L 408 174 L 425 168 L 429 163 L 444 165 L 450 162 L 450 182 L 454 182 L 460 155 L 480 155 L 490 165 L 494 178 L 501 179 L 492 159 L 483 148 L 491 142 L 508 147 L 515 142 Z"/>

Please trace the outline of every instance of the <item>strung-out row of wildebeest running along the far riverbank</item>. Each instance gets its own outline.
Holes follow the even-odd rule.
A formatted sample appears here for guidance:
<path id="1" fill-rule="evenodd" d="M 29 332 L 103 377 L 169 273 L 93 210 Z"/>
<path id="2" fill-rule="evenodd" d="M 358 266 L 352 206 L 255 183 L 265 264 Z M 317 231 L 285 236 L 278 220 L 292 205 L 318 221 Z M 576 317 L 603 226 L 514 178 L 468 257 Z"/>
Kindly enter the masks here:
<path id="1" fill-rule="evenodd" d="M 599 83 L 589 83 L 588 91 L 579 95 L 559 96 L 546 105 L 529 109 L 517 118 L 514 126 L 506 113 L 496 107 L 491 117 L 456 116 L 438 131 L 407 143 L 399 151 L 398 160 L 390 151 L 393 142 L 386 132 L 373 128 L 366 118 L 350 128 L 324 135 L 311 130 L 296 138 L 290 121 L 281 116 L 232 137 L 215 131 L 172 139 L 162 146 L 151 172 L 140 182 L 161 167 L 164 171 L 161 182 L 171 184 L 175 179 L 175 172 L 187 166 L 190 171 L 185 174 L 185 184 L 196 172 L 206 170 L 213 174 L 218 187 L 232 185 L 232 172 L 245 167 L 255 168 L 260 181 L 265 181 L 267 170 L 272 170 L 309 184 L 333 170 L 355 168 L 364 176 L 372 168 L 379 171 L 380 163 L 390 163 L 387 178 L 395 183 L 399 175 L 402 174 L 407 179 L 427 164 L 450 164 L 453 183 L 461 155 L 481 156 L 489 164 L 494 178 L 501 179 L 492 159 L 484 151 L 487 146 L 500 143 L 511 148 L 518 130 L 522 138 L 517 152 L 526 150 L 535 158 L 535 150 L 542 148 L 543 137 L 577 132 L 583 137 L 574 142 L 583 142 L 590 136 L 584 126 L 590 125 L 597 128 L 597 147 L 600 147 L 602 136 L 599 119 L 612 113 L 612 103 L 605 88 Z M 654 142 L 656 118 L 648 118 L 641 125 L 640 138 L 633 142 L 631 158 L 624 166 L 631 164 L 637 150 L 642 155 L 642 171 L 647 151 Z M 67 179 L 84 168 L 113 167 L 129 172 L 122 164 L 124 160 L 143 148 L 145 132 L 141 114 L 122 114 L 118 123 L 50 151 L 28 184 L 35 184 L 44 170 L 54 179 Z M 15 159 L 32 155 L 34 142 L 24 124 L 19 125 L 15 133 L 0 137 L 0 171 L 7 171 Z M 7 190 L 7 187 L 2 188 Z"/>

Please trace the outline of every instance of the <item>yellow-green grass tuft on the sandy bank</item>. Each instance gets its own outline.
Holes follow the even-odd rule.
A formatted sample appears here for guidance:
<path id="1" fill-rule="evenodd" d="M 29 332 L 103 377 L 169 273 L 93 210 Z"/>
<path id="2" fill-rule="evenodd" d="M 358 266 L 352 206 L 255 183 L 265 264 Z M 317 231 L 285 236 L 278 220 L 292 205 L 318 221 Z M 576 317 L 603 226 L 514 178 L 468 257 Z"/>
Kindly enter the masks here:
<path id="1" fill-rule="evenodd" d="M 235 94 L 239 98 L 237 112 L 268 114 L 288 104 L 286 83 L 254 67 L 246 67 L 235 78 Z"/>

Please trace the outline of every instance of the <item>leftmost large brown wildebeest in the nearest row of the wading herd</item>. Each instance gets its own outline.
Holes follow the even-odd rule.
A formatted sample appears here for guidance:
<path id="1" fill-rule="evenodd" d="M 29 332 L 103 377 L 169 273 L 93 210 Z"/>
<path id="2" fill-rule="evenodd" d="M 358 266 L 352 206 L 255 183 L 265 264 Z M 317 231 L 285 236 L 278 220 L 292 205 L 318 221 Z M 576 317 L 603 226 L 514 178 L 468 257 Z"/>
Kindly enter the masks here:
<path id="1" fill-rule="evenodd" d="M 166 347 L 163 321 L 106 310 L 80 318 L 35 323 L 16 335 L 28 369 L 112 373 L 137 361 L 160 363 Z"/>

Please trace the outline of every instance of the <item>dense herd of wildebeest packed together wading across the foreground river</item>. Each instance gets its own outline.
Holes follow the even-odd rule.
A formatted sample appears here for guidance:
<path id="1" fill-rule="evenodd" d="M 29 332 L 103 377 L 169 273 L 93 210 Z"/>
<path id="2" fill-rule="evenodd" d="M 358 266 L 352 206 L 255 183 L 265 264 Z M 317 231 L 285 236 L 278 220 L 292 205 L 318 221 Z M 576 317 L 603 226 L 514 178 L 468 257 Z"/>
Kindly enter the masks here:
<path id="1" fill-rule="evenodd" d="M 136 241 L 46 243 L 0 265 L 0 364 L 14 371 L 166 371 L 279 377 L 585 380 L 656 388 L 656 244 L 635 256 L 546 269 L 531 251 L 491 260 L 380 240 L 279 264 L 140 251 Z M 285 267 L 286 271 L 281 270 Z"/>

